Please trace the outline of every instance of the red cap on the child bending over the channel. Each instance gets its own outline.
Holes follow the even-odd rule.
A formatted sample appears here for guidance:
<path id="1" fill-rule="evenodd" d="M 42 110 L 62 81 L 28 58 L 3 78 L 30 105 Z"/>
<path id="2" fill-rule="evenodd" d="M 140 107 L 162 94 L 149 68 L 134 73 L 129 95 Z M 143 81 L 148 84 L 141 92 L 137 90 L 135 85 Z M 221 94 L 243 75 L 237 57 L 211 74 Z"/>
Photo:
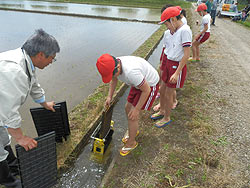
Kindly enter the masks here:
<path id="1" fill-rule="evenodd" d="M 112 80 L 113 71 L 115 69 L 115 59 L 109 54 L 101 55 L 96 62 L 96 67 L 102 76 L 104 83 L 109 83 Z"/>

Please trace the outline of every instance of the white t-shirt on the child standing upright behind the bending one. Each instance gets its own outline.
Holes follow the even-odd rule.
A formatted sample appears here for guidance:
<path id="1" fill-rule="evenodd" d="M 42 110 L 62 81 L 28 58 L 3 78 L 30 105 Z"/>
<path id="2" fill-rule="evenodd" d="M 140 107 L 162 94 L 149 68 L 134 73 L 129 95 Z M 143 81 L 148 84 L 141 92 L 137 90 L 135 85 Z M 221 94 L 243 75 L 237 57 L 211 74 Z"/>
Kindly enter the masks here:
<path id="1" fill-rule="evenodd" d="M 182 25 L 171 37 L 171 47 L 168 49 L 167 57 L 172 61 L 181 61 L 184 56 L 183 47 L 192 45 L 192 31 L 188 25 Z"/>

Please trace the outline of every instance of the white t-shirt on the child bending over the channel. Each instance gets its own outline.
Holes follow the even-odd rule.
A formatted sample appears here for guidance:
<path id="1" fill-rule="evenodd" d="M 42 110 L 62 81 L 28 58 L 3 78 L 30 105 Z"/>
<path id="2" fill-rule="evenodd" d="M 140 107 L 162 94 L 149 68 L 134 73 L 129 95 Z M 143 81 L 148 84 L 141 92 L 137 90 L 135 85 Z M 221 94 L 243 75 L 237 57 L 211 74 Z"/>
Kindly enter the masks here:
<path id="1" fill-rule="evenodd" d="M 149 86 L 155 86 L 160 78 L 155 68 L 145 59 L 136 56 L 118 57 L 121 60 L 122 73 L 118 79 L 129 86 L 140 88 L 145 81 Z"/>

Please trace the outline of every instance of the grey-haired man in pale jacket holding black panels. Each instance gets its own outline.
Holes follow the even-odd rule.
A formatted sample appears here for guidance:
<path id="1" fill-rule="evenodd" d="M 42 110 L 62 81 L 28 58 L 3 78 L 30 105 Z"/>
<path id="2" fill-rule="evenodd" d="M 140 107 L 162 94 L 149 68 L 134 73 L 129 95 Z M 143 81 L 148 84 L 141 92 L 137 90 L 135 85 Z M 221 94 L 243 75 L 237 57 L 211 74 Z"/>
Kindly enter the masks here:
<path id="1" fill-rule="evenodd" d="M 21 187 L 8 165 L 15 160 L 9 134 L 26 151 L 37 146 L 34 139 L 23 135 L 18 109 L 30 94 L 36 103 L 55 111 L 55 103 L 45 101 L 44 90 L 36 78 L 36 67 L 43 69 L 51 64 L 59 51 L 56 39 L 39 29 L 22 48 L 0 53 L 0 184 L 6 187 Z"/>

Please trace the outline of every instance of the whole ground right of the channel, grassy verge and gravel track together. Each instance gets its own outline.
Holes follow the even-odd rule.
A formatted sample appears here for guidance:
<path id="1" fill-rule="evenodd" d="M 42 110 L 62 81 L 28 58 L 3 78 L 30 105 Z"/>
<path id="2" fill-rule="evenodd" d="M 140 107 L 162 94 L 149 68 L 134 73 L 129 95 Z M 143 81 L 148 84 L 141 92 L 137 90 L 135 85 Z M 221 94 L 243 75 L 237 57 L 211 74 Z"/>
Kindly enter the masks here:
<path id="1" fill-rule="evenodd" d="M 195 34 L 201 17 L 190 12 Z M 139 146 L 117 154 L 101 187 L 250 187 L 250 30 L 228 18 L 215 24 L 201 61 L 188 63 L 173 123 L 157 129 L 144 112 Z"/>

